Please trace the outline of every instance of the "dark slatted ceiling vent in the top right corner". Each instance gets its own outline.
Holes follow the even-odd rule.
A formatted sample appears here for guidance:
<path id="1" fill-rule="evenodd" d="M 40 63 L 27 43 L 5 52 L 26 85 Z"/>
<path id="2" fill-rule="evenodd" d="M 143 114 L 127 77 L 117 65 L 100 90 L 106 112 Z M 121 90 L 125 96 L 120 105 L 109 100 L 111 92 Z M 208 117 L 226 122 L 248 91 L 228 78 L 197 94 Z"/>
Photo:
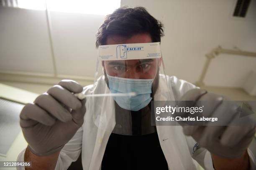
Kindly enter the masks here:
<path id="1" fill-rule="evenodd" d="M 250 2 L 251 0 L 237 0 L 233 16 L 245 18 Z"/>

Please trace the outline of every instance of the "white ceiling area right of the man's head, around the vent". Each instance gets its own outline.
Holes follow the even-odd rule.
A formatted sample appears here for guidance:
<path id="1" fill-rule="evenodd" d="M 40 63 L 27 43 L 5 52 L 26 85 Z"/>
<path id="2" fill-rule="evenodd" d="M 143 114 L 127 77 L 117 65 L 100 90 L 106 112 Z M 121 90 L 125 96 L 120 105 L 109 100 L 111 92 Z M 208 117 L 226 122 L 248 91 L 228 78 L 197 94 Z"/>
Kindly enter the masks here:
<path id="1" fill-rule="evenodd" d="M 205 54 L 222 46 L 256 52 L 256 1 L 246 19 L 232 18 L 236 0 L 122 0 L 121 5 L 143 6 L 164 23 L 161 48 L 166 73 L 195 82 Z M 240 87 L 256 58 L 218 56 L 210 65 L 205 83 Z"/>

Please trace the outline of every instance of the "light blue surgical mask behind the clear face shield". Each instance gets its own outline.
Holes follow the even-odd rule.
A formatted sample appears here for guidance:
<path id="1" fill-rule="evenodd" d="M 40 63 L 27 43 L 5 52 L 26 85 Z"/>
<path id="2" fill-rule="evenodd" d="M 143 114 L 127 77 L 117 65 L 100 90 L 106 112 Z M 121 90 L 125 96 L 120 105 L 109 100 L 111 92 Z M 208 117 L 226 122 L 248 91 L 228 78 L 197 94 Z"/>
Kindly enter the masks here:
<path id="1" fill-rule="evenodd" d="M 108 75 L 111 93 L 131 93 L 136 96 L 114 96 L 115 102 L 123 109 L 138 111 L 151 101 L 151 87 L 154 79 L 125 79 Z"/>

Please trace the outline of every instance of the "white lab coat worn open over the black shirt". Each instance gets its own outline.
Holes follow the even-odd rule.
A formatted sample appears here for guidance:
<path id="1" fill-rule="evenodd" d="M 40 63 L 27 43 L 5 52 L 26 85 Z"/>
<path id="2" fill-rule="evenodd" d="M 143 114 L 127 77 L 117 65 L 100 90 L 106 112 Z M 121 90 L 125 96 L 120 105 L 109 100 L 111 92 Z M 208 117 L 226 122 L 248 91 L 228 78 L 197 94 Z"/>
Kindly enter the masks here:
<path id="1" fill-rule="evenodd" d="M 159 79 L 159 89 L 163 79 Z M 186 91 L 196 88 L 187 81 L 177 79 L 175 76 L 167 76 L 167 83 L 171 93 L 171 100 L 178 100 Z M 102 86 L 106 86 L 104 79 L 99 79 L 95 88 L 97 94 L 108 93 Z M 97 88 L 99 87 L 99 88 Z M 159 89 L 154 95 L 154 99 L 164 100 L 164 96 Z M 92 94 L 93 86 L 84 87 L 85 94 Z M 92 98 L 86 102 L 86 114 L 84 124 L 77 131 L 74 137 L 63 147 L 60 152 L 55 170 L 66 170 L 69 165 L 76 161 L 82 151 L 82 166 L 84 170 L 100 170 L 102 158 L 105 152 L 111 131 L 98 128 L 92 116 Z M 114 101 L 102 101 L 107 106 L 105 112 L 114 115 Z M 99 103 L 100 104 L 100 103 Z M 101 109 L 99 107 L 99 109 Z M 194 161 L 196 160 L 206 170 L 214 170 L 210 152 L 204 148 L 196 147 L 197 142 L 192 137 L 187 137 L 182 132 L 180 126 L 156 126 L 159 142 L 168 163 L 169 170 L 195 170 Z M 193 152 L 194 151 L 194 152 Z M 19 161 L 24 160 L 24 150 L 18 156 Z M 255 158 L 248 150 L 251 162 L 251 170 L 256 169 Z"/>

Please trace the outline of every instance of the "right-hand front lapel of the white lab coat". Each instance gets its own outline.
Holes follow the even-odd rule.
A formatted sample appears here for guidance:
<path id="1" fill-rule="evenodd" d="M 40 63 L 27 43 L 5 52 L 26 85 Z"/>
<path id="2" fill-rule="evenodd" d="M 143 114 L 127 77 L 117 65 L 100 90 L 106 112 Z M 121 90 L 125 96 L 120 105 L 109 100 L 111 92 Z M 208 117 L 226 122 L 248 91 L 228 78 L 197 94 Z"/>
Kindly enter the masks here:
<path id="1" fill-rule="evenodd" d="M 171 86 L 171 84 L 169 84 Z M 168 88 L 166 79 L 160 76 L 159 88 L 154 95 L 155 101 L 175 101 L 172 88 Z M 169 91 L 169 96 L 166 92 Z M 168 99 L 169 98 L 169 99 Z M 181 126 L 156 126 L 159 142 L 171 170 L 194 170 L 195 165 L 189 153 L 185 135 Z"/>

